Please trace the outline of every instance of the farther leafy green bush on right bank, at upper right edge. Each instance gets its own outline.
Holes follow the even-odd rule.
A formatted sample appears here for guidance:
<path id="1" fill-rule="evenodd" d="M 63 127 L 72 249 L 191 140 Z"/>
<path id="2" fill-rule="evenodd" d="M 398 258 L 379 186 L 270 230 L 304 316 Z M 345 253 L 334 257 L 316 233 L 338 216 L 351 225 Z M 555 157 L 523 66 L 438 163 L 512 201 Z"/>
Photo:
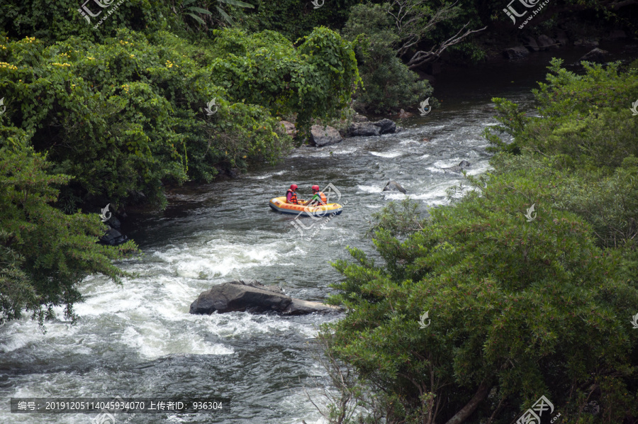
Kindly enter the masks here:
<path id="1" fill-rule="evenodd" d="M 552 60 L 547 83 L 533 91 L 539 116 L 526 116 L 516 104 L 493 99 L 502 124 L 486 131 L 493 150 L 567 155 L 590 169 L 613 169 L 628 155 L 638 155 L 638 121 L 629 111 L 638 98 L 638 72 L 620 72 L 618 63 L 608 67 L 585 63 L 586 74 L 577 75 L 561 64 Z M 495 130 L 515 140 L 504 143 Z"/>

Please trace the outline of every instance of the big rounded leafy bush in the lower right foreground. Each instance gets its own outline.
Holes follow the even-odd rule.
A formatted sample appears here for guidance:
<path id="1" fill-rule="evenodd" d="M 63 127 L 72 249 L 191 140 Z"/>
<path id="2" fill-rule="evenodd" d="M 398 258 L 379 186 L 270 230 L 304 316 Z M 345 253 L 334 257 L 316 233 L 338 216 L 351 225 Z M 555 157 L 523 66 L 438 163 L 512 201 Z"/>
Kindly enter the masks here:
<path id="1" fill-rule="evenodd" d="M 378 230 L 381 264 L 354 248 L 335 263 L 345 280 L 330 302 L 347 316 L 323 327 L 330 354 L 392 403 L 388 423 L 506 424 L 541 395 L 566 423 L 585 398 L 609 422 L 637 415 L 638 284 L 620 278 L 620 255 L 544 182 L 504 173 L 473 188 L 403 242 Z"/>

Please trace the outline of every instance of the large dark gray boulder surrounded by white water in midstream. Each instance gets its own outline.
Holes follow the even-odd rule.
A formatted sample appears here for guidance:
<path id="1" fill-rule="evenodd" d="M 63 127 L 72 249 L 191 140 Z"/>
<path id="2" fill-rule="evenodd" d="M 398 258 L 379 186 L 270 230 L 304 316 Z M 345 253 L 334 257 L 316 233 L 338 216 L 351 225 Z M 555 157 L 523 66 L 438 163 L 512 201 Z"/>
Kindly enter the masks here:
<path id="1" fill-rule="evenodd" d="M 217 284 L 203 291 L 191 303 L 190 313 L 274 312 L 281 315 L 336 313 L 340 308 L 320 302 L 302 301 L 286 296 L 277 286 L 264 286 L 257 280 L 236 280 Z"/>

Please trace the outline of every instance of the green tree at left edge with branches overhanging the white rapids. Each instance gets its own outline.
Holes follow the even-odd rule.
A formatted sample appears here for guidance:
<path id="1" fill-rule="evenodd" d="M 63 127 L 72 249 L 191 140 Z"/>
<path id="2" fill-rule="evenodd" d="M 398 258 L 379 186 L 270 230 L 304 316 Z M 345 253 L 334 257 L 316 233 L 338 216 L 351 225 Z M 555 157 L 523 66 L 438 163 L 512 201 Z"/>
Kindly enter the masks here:
<path id="1" fill-rule="evenodd" d="M 84 277 L 104 274 L 120 282 L 125 273 L 112 260 L 137 250 L 135 243 L 99 245 L 106 230 L 97 214 L 66 215 L 51 206 L 56 186 L 69 177 L 50 174 L 45 156 L 26 146 L 21 130 L 0 132 L 0 323 L 32 313 L 40 323 L 65 306 L 76 318 Z"/>

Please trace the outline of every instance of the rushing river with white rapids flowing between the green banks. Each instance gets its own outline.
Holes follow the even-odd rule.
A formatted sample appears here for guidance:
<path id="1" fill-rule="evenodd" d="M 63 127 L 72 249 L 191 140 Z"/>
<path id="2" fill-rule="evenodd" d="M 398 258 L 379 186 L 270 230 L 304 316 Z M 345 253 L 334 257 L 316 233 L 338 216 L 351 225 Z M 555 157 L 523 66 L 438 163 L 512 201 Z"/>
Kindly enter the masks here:
<path id="1" fill-rule="evenodd" d="M 364 234 L 371 213 L 405 197 L 381 191 L 389 179 L 424 208 L 446 203 L 446 189 L 462 176 L 444 168 L 468 160 L 470 174 L 488 169 L 481 132 L 496 123 L 490 99 L 507 97 L 530 108 L 530 89 L 544 79 L 549 58 L 560 54 L 571 63 L 584 52 L 449 71 L 435 82 L 442 108 L 404 121 L 401 133 L 302 147 L 277 167 L 173 191 L 166 211 L 128 223 L 144 255 L 119 265 L 138 277 L 123 286 L 86 279 L 86 302 L 77 307 L 82 318 L 73 327 L 51 323 L 43 335 L 21 320 L 0 329 L 0 423 L 89 424 L 96 416 L 8 411 L 11 397 L 50 396 L 230 401 L 213 414 L 118 415 L 117 423 L 322 423 L 303 388 L 325 402 L 313 389 L 313 378 L 325 383 L 313 338 L 317 325 L 338 317 L 191 316 L 190 303 L 231 279 L 258 279 L 301 299 L 325 299 L 328 284 L 340 278 L 328 262 L 346 258 L 347 245 L 369 251 Z M 291 183 L 301 197 L 313 184 L 333 184 L 340 203 L 347 203 L 344 212 L 302 237 L 291 225 L 294 216 L 267 204 Z"/>

